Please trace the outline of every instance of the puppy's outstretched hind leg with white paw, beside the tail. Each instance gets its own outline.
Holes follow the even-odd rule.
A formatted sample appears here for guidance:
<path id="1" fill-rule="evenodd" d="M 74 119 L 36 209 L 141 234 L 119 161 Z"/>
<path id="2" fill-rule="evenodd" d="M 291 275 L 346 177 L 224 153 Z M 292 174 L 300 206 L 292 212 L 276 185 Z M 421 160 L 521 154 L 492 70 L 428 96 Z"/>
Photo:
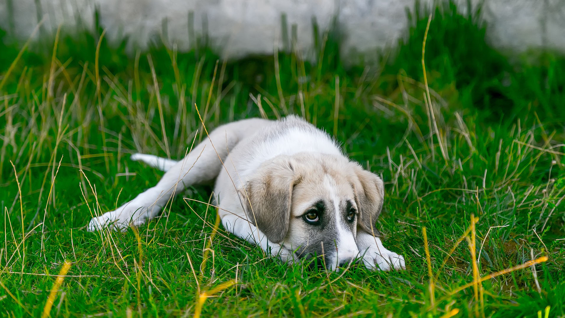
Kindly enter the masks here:
<path id="1" fill-rule="evenodd" d="M 263 119 L 247 119 L 216 128 L 184 159 L 169 167 L 157 185 L 116 210 L 94 217 L 88 225 L 88 230 L 105 227 L 125 230 L 129 224 L 145 223 L 187 186 L 213 181 L 223 168 L 222 162 L 228 156 L 229 150 L 269 123 L 271 122 Z"/>

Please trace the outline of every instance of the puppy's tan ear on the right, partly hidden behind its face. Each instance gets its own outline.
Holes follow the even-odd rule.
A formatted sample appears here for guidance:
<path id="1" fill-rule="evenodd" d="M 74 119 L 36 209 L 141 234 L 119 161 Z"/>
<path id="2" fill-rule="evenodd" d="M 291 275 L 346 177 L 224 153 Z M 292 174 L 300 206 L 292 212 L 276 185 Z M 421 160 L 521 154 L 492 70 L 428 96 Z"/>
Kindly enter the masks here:
<path id="1" fill-rule="evenodd" d="M 375 228 L 375 222 L 383 209 L 385 196 L 383 180 L 358 164 L 355 164 L 354 171 L 355 176 L 351 183 L 359 212 L 357 224 L 365 232 L 380 236 L 380 232 Z"/>

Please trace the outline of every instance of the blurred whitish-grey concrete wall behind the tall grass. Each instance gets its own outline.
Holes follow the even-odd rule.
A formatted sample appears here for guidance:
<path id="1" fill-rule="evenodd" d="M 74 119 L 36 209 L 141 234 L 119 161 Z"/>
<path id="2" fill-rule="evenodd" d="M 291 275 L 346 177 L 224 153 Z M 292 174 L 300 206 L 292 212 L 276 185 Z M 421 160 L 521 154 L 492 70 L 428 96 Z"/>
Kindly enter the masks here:
<path id="1" fill-rule="evenodd" d="M 473 5 L 479 1 L 472 0 Z M 95 7 L 108 38 L 127 36 L 131 50 L 159 37 L 187 50 L 207 34 L 224 58 L 239 58 L 288 47 L 294 33 L 298 50 L 308 53 L 312 19 L 327 29 L 337 17 L 345 36 L 342 53 L 370 57 L 405 34 L 406 8 L 413 8 L 414 0 L 0 0 L 0 27 L 21 39 L 41 19 L 44 32 L 54 33 L 58 25 L 92 27 Z M 538 47 L 565 53 L 565 0 L 486 0 L 483 10 L 494 46 L 516 53 Z"/>

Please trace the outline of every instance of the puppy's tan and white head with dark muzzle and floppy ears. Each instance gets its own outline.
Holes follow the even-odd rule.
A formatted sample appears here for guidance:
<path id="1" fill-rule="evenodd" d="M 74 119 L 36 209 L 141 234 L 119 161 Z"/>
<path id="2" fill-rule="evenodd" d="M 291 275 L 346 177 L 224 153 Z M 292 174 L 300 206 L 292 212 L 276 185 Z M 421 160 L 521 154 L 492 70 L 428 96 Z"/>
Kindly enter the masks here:
<path id="1" fill-rule="evenodd" d="M 248 219 L 271 242 L 336 269 L 359 256 L 358 229 L 378 233 L 384 186 L 345 158 L 301 153 L 263 163 L 238 193 Z"/>

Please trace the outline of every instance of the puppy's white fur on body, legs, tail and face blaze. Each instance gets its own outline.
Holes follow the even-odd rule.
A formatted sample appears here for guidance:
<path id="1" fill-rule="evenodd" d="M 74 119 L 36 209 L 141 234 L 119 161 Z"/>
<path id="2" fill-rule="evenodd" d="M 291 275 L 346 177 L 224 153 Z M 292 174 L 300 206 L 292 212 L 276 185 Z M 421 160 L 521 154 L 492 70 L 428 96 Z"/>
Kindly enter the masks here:
<path id="1" fill-rule="evenodd" d="M 290 117 L 290 122 L 301 120 Z M 282 124 L 281 124 L 282 123 Z M 115 211 L 94 217 L 88 226 L 90 231 L 106 227 L 125 230 L 130 224 L 140 225 L 158 214 L 160 209 L 186 186 L 210 182 L 215 179 L 214 194 L 219 205 L 219 215 L 226 230 L 260 246 L 271 255 L 279 255 L 284 261 L 294 262 L 297 255 L 285 242 L 268 241 L 253 224 L 247 221 L 237 189 L 241 189 L 251 175 L 263 163 L 279 155 L 298 153 L 320 153 L 347 159 L 331 138 L 318 129 L 308 127 L 284 127 L 284 121 L 248 119 L 223 125 L 210 133 L 207 140 L 196 146 L 179 162 L 152 155 L 135 154 L 133 160 L 141 160 L 166 171 L 154 187 Z M 265 136 L 271 136 L 266 138 Z M 220 161 L 221 159 L 221 161 Z M 223 164 L 222 164 L 223 162 Z M 327 180 L 327 189 L 334 191 L 332 180 Z M 333 197 L 336 197 L 333 195 Z M 334 199 L 338 211 L 338 198 Z M 337 256 L 329 264 L 335 269 L 344 259 L 363 255 L 363 263 L 371 269 L 401 269 L 405 267 L 402 256 L 386 250 L 379 238 L 371 234 L 348 232 L 339 224 Z"/>

